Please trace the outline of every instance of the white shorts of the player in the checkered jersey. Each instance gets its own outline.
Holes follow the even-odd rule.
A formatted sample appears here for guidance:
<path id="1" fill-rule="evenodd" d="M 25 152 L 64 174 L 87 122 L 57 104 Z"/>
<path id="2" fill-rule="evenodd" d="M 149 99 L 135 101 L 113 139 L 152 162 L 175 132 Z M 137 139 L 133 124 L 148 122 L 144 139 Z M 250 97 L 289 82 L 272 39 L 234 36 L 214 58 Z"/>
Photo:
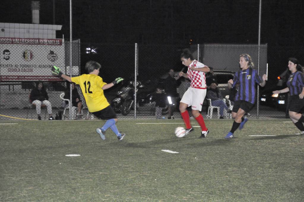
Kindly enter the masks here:
<path id="1" fill-rule="evenodd" d="M 185 103 L 188 104 L 188 106 L 192 106 L 192 110 L 202 111 L 202 105 L 206 97 L 206 92 L 206 89 L 196 89 L 190 87 L 181 98 L 181 103 Z"/>

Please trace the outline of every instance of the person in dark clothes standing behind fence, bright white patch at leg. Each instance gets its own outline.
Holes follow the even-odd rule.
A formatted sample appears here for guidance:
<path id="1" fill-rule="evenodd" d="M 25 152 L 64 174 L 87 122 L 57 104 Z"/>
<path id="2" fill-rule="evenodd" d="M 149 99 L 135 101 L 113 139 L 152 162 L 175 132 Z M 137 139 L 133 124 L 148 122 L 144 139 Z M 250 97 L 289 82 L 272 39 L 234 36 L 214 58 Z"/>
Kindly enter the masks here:
<path id="1" fill-rule="evenodd" d="M 179 78 L 179 76 L 178 76 L 178 78 Z M 174 119 L 174 111 L 175 111 L 176 102 L 178 99 L 177 81 L 176 81 L 177 79 L 175 79 L 175 77 L 174 77 L 174 70 L 170 69 L 169 75 L 164 81 L 164 89 L 168 96 L 168 103 L 169 103 L 168 119 Z"/>

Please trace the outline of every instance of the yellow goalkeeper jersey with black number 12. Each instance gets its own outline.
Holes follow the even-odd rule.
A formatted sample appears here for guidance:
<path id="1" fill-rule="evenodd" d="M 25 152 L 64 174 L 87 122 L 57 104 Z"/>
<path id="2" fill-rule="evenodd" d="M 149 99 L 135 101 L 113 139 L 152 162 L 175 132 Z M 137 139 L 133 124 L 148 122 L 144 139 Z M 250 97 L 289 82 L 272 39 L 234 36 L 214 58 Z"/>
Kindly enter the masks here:
<path id="1" fill-rule="evenodd" d="M 102 86 L 106 83 L 102 78 L 95 74 L 83 74 L 71 78 L 72 82 L 80 85 L 89 112 L 100 111 L 110 104 L 103 94 Z"/>

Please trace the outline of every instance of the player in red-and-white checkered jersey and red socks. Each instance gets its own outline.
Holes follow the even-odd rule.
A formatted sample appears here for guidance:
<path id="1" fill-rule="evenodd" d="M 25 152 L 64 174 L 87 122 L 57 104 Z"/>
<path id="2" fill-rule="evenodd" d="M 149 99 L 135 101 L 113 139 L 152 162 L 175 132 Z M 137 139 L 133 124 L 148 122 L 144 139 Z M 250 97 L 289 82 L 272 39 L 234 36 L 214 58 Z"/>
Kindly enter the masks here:
<path id="1" fill-rule="evenodd" d="M 202 110 L 203 101 L 206 97 L 206 76 L 205 73 L 209 72 L 208 66 L 200 63 L 193 59 L 191 52 L 188 49 L 183 50 L 181 54 L 182 64 L 188 66 L 188 71 L 179 72 L 179 76 L 189 78 L 191 80 L 190 88 L 184 93 L 180 104 L 179 110 L 181 112 L 181 117 L 183 118 L 186 125 L 186 135 L 193 131 L 190 124 L 189 113 L 187 107 L 191 106 L 192 114 L 196 121 L 201 126 L 201 138 L 206 138 L 209 133 L 208 128 L 205 125 L 203 116 L 199 113 Z"/>

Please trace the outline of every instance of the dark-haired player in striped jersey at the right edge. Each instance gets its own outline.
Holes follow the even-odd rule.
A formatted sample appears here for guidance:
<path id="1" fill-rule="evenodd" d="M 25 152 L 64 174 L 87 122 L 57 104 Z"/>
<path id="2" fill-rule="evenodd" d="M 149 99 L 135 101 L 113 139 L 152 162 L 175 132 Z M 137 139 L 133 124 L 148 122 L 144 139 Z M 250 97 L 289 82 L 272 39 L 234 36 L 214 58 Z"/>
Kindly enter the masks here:
<path id="1" fill-rule="evenodd" d="M 304 117 L 302 116 L 302 109 L 304 107 L 304 75 L 302 73 L 302 66 L 296 58 L 291 57 L 288 59 L 288 68 L 291 71 L 291 75 L 287 80 L 287 88 L 273 91 L 273 93 L 290 93 L 289 117 L 303 135 Z"/>

